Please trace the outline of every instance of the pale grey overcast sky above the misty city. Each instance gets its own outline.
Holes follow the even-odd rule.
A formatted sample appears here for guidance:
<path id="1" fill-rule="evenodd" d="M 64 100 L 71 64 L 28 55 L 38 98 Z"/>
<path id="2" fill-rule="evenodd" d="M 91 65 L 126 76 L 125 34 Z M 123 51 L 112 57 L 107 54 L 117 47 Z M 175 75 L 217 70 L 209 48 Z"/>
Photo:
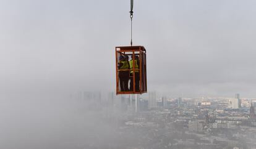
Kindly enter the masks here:
<path id="1" fill-rule="evenodd" d="M 134 1 L 148 91 L 256 97 L 256 1 Z M 1 96 L 114 91 L 130 1 L 1 0 Z"/>

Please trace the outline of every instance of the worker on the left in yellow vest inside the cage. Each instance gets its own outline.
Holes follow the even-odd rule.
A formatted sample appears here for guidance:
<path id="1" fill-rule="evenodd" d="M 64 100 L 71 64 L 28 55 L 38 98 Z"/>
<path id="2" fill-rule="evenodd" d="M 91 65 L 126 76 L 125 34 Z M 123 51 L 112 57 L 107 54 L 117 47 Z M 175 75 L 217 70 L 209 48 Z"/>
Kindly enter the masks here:
<path id="1" fill-rule="evenodd" d="M 129 82 L 129 61 L 127 57 L 120 56 L 120 62 L 118 63 L 118 77 L 120 81 L 121 92 L 129 91 L 128 82 Z"/>

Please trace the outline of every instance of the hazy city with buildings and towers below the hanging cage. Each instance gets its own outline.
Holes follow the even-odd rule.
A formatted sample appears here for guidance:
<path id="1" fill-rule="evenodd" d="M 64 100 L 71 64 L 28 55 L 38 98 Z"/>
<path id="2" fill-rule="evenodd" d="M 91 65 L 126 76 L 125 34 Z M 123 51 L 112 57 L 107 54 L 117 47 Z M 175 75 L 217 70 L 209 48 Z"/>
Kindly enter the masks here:
<path id="1" fill-rule="evenodd" d="M 77 92 L 80 112 L 112 127 L 105 141 L 93 134 L 80 148 L 256 148 L 256 98 L 163 97 Z M 97 125 L 97 124 L 96 124 Z M 104 133 L 104 132 L 102 132 Z"/>

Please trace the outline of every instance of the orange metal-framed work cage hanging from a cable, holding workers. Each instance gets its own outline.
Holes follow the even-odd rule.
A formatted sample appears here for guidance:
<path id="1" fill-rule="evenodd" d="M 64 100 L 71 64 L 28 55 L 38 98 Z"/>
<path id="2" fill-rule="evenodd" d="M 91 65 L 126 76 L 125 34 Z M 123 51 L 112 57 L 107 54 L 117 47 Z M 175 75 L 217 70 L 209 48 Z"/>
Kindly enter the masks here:
<path id="1" fill-rule="evenodd" d="M 143 46 L 116 47 L 116 94 L 147 92 L 146 62 Z"/>

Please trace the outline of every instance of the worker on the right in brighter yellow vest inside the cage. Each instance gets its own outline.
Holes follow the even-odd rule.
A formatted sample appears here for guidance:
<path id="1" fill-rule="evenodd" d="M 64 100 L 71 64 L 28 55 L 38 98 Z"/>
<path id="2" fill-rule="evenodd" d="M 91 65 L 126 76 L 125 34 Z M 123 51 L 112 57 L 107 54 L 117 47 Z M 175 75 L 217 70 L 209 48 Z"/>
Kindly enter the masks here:
<path id="1" fill-rule="evenodd" d="M 136 56 L 135 60 L 134 61 L 130 60 L 129 63 L 130 63 L 130 76 L 131 76 L 131 79 L 130 79 L 130 91 L 134 91 L 134 79 L 133 79 L 133 76 L 134 76 L 134 67 L 135 67 L 135 91 L 139 92 L 139 81 L 140 81 L 140 73 L 139 73 L 140 61 L 139 61 L 139 57 Z M 135 63 L 135 66 L 134 66 L 134 63 Z"/>

